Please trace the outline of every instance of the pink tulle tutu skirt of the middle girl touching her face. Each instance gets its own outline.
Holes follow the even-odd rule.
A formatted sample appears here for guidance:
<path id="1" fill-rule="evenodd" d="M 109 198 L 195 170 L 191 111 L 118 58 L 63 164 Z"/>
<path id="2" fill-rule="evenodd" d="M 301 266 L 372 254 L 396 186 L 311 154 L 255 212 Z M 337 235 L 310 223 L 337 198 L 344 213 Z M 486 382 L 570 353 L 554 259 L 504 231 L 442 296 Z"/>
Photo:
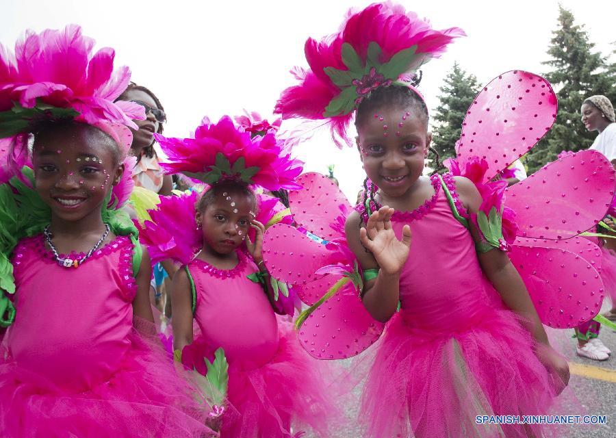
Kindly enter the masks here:
<path id="1" fill-rule="evenodd" d="M 229 363 L 228 398 L 238 415 L 223 415 L 221 437 L 299 437 L 305 430 L 331 436 L 338 410 L 326 387 L 326 364 L 307 355 L 290 324 L 279 322 L 279 330 L 279 350 L 265 365 L 242 370 Z M 182 361 L 205 374 L 204 352 L 213 359 L 214 351 L 199 337 L 184 348 Z"/>

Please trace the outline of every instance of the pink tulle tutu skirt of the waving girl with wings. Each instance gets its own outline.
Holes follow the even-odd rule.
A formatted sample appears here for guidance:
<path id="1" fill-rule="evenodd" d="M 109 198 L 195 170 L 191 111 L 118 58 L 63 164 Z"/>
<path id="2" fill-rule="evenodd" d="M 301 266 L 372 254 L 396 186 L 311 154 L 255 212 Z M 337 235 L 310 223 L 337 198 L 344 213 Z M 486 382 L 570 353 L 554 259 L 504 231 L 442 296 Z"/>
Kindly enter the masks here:
<path id="1" fill-rule="evenodd" d="M 387 325 L 361 399 L 370 437 L 546 436 L 541 426 L 478 424 L 478 415 L 548 413 L 559 383 L 511 311 L 490 309 L 452 328 L 397 313 Z M 448 329 L 444 329 L 448 326 Z M 562 387 L 562 383 L 560 383 Z M 534 434 L 534 435 L 533 435 Z"/>

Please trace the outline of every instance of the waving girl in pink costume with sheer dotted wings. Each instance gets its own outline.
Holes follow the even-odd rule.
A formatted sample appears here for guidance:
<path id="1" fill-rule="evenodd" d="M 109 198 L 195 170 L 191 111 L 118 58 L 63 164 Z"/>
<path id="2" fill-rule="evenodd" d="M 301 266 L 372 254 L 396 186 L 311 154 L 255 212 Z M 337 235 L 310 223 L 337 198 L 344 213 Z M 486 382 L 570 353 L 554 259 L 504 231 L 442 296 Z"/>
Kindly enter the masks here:
<path id="1" fill-rule="evenodd" d="M 329 248 L 313 245 L 311 249 L 309 242 L 290 235 L 292 231 L 284 227 L 273 227 L 266 233 L 266 263 L 273 268 L 272 272 L 280 268 L 280 276 L 285 276 L 287 264 L 292 263 L 274 256 L 284 248 L 283 233 L 286 234 L 284 240 L 296 240 L 293 251 L 307 259 L 305 263 L 321 257 L 330 263 L 316 271 L 314 268 L 318 264 L 305 269 L 298 266 L 293 273 L 303 276 L 305 282 L 320 281 L 326 287 L 333 285 L 320 300 L 311 298 L 309 301 L 311 308 L 298 319 L 300 339 L 314 357 L 349 357 L 374 343 L 383 331 L 380 322 L 387 322 L 361 401 L 360 420 L 370 437 L 543 436 L 548 431 L 537 424 L 479 424 L 476 419 L 482 415 L 522 417 L 548 412 L 556 395 L 567 385 L 569 369 L 567 362 L 550 347 L 535 305 L 550 324 L 561 326 L 566 321 L 565 324 L 572 327 L 576 318 L 587 320 L 598 311 L 595 307 L 600 307 L 602 298 L 598 293 L 602 292 L 598 288 L 600 280 L 598 275 L 594 276 L 597 272 L 591 264 L 584 261 L 583 268 L 587 267 L 592 273 L 583 283 L 589 288 L 584 290 L 580 284 L 580 293 L 576 294 L 591 292 L 586 301 L 593 309 L 586 307 L 587 312 L 575 313 L 567 307 L 554 311 L 552 302 L 547 306 L 541 299 L 534 305 L 534 298 L 531 300 L 517 271 L 522 270 L 524 263 L 512 257 L 514 266 L 506 253 L 517 231 L 506 217 L 509 211 L 502 208 L 506 183 L 482 181 L 496 176 L 488 171 L 488 162 L 493 170 L 502 170 L 536 142 L 535 135 L 530 139 L 528 134 L 519 133 L 517 129 L 506 129 L 510 113 L 513 127 L 520 121 L 513 120 L 517 114 L 515 106 L 519 106 L 517 112 L 523 111 L 525 117 L 528 117 L 528 107 L 536 110 L 534 118 L 531 112 L 530 120 L 524 121 L 527 132 L 538 128 L 545 132 L 556 111 L 554 93 L 543 79 L 526 72 L 516 70 L 495 79 L 496 82 L 502 80 L 504 91 L 493 92 L 489 90 L 492 84 L 487 86 L 485 90 L 490 92 L 489 96 L 485 99 L 478 96 L 474 102 L 476 109 L 472 106 L 468 112 L 473 116 L 478 114 L 478 120 L 468 123 L 472 127 L 463 131 L 463 136 L 467 136 L 462 139 L 465 151 L 470 148 L 473 152 L 474 142 L 499 145 L 499 148 L 489 146 L 480 149 L 481 152 L 476 151 L 484 154 L 483 161 L 479 157 L 476 163 L 480 167 L 485 164 L 483 172 L 475 175 L 477 181 L 451 174 L 424 177 L 424 159 L 431 135 L 426 103 L 415 88 L 421 74 L 413 70 L 444 51 L 452 38 L 463 32 L 457 28 L 433 30 L 412 12 L 405 13 L 401 6 L 390 3 L 370 5 L 357 14 L 349 14 L 341 29 L 339 34 L 321 42 L 307 41 L 305 51 L 311 68 L 299 70 L 301 83 L 285 90 L 277 105 L 283 118 L 308 118 L 320 124 L 326 120 L 338 142 L 348 141 L 346 126 L 357 110 L 356 143 L 368 177 L 363 205 L 346 217 L 346 242 L 344 237 L 337 237 Z M 522 101 L 525 96 L 528 107 L 526 101 Z M 501 97 L 506 97 L 502 105 L 507 106 L 509 112 L 504 120 L 498 117 L 500 130 L 495 135 L 487 128 L 496 127 L 496 123 L 491 123 L 495 110 L 498 115 L 504 113 Z M 544 107 L 547 116 L 546 111 L 541 110 Z M 480 129 L 482 127 L 486 129 Z M 474 137 L 476 133 L 479 135 Z M 486 140 L 488 135 L 490 140 Z M 499 136 L 502 136 L 502 150 Z M 524 141 L 520 142 L 522 136 Z M 514 144 L 513 151 L 511 144 Z M 599 161 L 598 157 L 591 158 L 591 163 Z M 584 161 L 581 164 L 583 166 Z M 587 165 L 587 170 L 595 170 L 593 166 Z M 469 168 L 473 166 L 467 163 L 463 170 Z M 607 181 L 611 175 L 603 175 L 605 166 L 603 169 L 602 178 L 606 177 Z M 563 168 L 554 173 L 560 176 L 561 172 Z M 544 179 L 543 183 L 546 181 Z M 310 205 L 305 202 L 297 205 L 292 200 L 292 213 L 298 222 L 307 222 L 305 218 L 314 221 L 313 227 L 320 226 L 321 235 L 337 235 L 339 220 L 325 228 L 324 221 L 317 217 L 321 211 L 333 210 L 336 204 L 324 200 L 327 195 L 315 190 L 317 184 L 318 191 L 328 192 L 322 179 L 318 183 L 305 184 L 305 188 L 312 190 L 311 198 L 320 207 L 313 209 L 309 216 L 300 210 L 302 206 L 304 210 L 309 209 Z M 481 194 L 478 188 L 483 190 Z M 530 190 L 526 192 L 530 194 Z M 512 194 L 516 195 L 513 201 L 526 196 L 521 191 Z M 307 198 L 309 196 L 305 195 L 303 201 Z M 524 201 L 528 203 L 528 198 L 520 202 Z M 522 212 L 537 213 L 533 207 L 538 203 L 528 203 L 526 209 L 522 207 Z M 340 207 L 340 211 L 344 211 L 344 203 Z M 342 218 L 345 216 L 343 214 Z M 528 214 L 520 216 L 526 220 Z M 587 214 L 582 213 L 582 216 Z M 523 224 L 525 232 L 518 235 L 526 236 L 526 229 L 530 229 L 530 237 L 536 224 Z M 545 225 L 541 230 L 545 238 L 550 239 L 556 232 L 550 231 L 552 222 Z M 559 225 L 554 228 L 568 229 Z M 561 237 L 559 235 L 558 239 Z M 543 242 L 530 245 L 542 246 Z M 335 261 L 333 254 L 339 257 L 344 253 L 345 244 L 357 257 L 361 270 L 357 264 L 353 268 L 352 259 L 332 262 Z M 532 257 L 535 253 L 539 257 L 543 249 L 532 250 Z M 522 259 L 528 261 L 530 258 L 522 250 L 516 251 L 515 255 L 526 255 Z M 566 252 L 563 250 L 563 254 Z M 572 260 L 576 257 L 574 253 L 568 255 Z M 548 257 L 550 254 L 545 256 L 546 263 Z M 340 258 L 349 259 L 348 256 Z M 553 259 L 554 256 L 549 261 Z M 532 269 L 532 260 L 528 265 Z M 583 274 L 577 271 L 580 267 L 576 266 L 574 276 Z M 334 274 L 342 274 L 337 277 L 339 281 L 335 282 L 336 277 L 328 280 L 328 276 Z M 533 275 L 541 277 L 542 273 L 532 272 L 530 276 Z M 573 281 L 569 281 L 569 287 Z M 592 282 L 592 287 L 587 281 Z M 354 288 L 344 292 L 341 287 L 351 282 L 361 290 L 363 307 L 369 315 L 357 308 L 354 314 L 348 310 L 354 306 L 351 295 Z M 547 283 L 543 284 L 550 289 Z M 345 302 L 346 309 L 339 302 Z M 400 310 L 396 311 L 398 307 Z M 581 307 L 583 309 L 584 305 Z M 585 313 L 590 314 L 585 316 Z"/>

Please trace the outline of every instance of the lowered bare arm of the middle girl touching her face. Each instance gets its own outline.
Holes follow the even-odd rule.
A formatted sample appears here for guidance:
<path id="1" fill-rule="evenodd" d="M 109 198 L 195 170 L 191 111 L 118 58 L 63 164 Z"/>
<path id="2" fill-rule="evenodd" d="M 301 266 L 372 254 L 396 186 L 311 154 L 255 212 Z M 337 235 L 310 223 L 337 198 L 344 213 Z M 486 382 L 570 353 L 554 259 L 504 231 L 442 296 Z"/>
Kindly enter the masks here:
<path id="1" fill-rule="evenodd" d="M 184 269 L 176 272 L 171 284 L 173 350 L 182 351 L 192 344 L 192 289 Z"/>

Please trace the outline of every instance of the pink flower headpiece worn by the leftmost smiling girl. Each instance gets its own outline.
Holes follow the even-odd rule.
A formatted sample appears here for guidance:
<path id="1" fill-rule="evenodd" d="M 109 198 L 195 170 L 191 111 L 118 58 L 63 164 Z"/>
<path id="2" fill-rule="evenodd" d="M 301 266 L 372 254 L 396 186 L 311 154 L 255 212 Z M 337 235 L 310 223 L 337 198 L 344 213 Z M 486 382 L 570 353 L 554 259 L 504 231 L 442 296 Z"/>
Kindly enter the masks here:
<path id="1" fill-rule="evenodd" d="M 114 102 L 130 70 L 114 71 L 114 50 L 92 53 L 93 47 L 77 25 L 27 31 L 14 53 L 0 45 L 0 138 L 28 133 L 38 120 L 70 118 L 99 127 L 127 152 L 132 136 L 126 127 L 136 128 L 132 119 L 144 119 L 144 109 Z"/>

